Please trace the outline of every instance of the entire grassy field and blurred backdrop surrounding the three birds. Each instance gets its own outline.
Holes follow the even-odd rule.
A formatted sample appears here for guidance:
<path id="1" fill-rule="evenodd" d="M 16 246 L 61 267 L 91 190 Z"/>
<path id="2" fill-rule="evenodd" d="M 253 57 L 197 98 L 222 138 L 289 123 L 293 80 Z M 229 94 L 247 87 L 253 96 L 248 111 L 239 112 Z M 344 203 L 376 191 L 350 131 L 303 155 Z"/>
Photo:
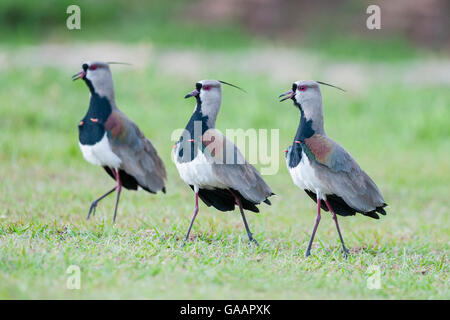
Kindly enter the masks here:
<path id="1" fill-rule="evenodd" d="M 81 30 L 66 8 L 81 8 Z M 368 30 L 366 8 L 381 8 Z M 11 1 L 0 2 L 1 298 L 448 299 L 450 5 L 429 1 Z M 84 161 L 77 124 L 88 89 L 71 82 L 85 60 L 112 67 L 118 106 L 152 140 L 168 171 L 167 195 L 94 198 L 113 181 Z M 248 246 L 239 215 L 201 205 L 194 241 L 181 248 L 193 195 L 170 160 L 171 133 L 194 108 L 197 80 L 224 88 L 217 126 L 279 129 L 277 194 L 248 214 L 261 246 Z M 373 177 L 389 204 L 379 221 L 340 219 L 343 260 L 324 214 L 291 181 L 283 150 L 298 111 L 277 96 L 295 80 L 322 89 L 325 128 Z M 260 168 L 260 164 L 255 166 Z M 66 288 L 79 265 L 82 289 Z M 369 290 L 369 266 L 382 287 Z"/>

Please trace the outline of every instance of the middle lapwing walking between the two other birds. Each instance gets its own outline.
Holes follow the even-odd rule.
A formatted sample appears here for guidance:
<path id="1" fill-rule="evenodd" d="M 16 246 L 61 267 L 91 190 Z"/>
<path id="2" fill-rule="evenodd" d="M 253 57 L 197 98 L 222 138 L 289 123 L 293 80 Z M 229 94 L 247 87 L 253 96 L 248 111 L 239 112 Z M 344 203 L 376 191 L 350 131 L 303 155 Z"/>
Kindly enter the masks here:
<path id="1" fill-rule="evenodd" d="M 215 129 L 222 103 L 222 83 L 231 85 L 217 80 L 199 81 L 195 90 L 185 96 L 195 97 L 197 104 L 172 154 L 181 179 L 195 193 L 194 215 L 185 242 L 189 240 L 200 197 L 208 207 L 213 206 L 220 211 L 232 211 L 237 205 L 249 240 L 258 245 L 244 209 L 259 212 L 256 205 L 261 202 L 270 205 L 268 198 L 273 193 L 234 143 Z"/>

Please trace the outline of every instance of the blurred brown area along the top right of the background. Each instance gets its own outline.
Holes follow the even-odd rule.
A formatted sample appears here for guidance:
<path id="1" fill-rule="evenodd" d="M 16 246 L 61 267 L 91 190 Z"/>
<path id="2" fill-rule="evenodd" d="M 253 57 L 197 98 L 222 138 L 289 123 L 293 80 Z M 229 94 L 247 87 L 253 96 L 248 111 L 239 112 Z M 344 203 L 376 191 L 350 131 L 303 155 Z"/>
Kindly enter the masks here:
<path id="1" fill-rule="evenodd" d="M 188 10 L 205 26 L 235 21 L 252 34 L 289 41 L 305 37 L 299 30 L 314 28 L 367 35 L 364 28 L 371 5 L 381 8 L 379 35 L 402 35 L 421 45 L 450 50 L 450 1 L 447 0 L 221 0 L 197 1 Z M 330 19 L 331 17 L 331 19 Z M 337 29 L 336 29 L 337 28 Z"/>

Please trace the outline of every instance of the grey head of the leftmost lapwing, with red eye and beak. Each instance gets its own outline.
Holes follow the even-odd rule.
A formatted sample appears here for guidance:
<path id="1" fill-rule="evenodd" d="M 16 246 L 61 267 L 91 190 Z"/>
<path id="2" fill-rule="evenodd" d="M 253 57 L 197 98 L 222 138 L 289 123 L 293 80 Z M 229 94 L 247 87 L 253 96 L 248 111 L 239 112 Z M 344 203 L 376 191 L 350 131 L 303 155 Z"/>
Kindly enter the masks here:
<path id="1" fill-rule="evenodd" d="M 111 70 L 107 62 L 85 62 L 82 70 L 72 77 L 72 80 L 83 79 L 91 93 L 101 97 L 114 99 L 114 84 Z"/>

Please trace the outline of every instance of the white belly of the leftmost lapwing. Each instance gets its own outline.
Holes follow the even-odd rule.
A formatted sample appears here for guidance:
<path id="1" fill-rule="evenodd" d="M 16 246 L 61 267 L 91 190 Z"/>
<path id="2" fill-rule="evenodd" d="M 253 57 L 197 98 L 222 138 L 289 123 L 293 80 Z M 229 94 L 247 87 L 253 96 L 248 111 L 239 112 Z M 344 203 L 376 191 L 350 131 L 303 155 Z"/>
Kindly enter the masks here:
<path id="1" fill-rule="evenodd" d="M 102 140 L 92 146 L 81 143 L 79 145 L 83 157 L 92 164 L 117 169 L 122 163 L 122 160 L 111 150 L 106 132 Z"/>

